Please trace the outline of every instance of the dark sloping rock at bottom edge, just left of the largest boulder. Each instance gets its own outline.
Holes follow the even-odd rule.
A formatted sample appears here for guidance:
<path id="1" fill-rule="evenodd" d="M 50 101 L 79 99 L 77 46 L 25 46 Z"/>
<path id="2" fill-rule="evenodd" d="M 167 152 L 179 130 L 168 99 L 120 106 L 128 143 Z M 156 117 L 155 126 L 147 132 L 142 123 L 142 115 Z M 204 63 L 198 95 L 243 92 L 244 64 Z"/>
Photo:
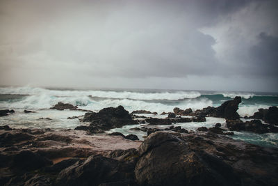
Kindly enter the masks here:
<path id="1" fill-rule="evenodd" d="M 58 174 L 56 185 L 134 185 L 133 162 L 122 162 L 101 155 L 76 162 Z"/>

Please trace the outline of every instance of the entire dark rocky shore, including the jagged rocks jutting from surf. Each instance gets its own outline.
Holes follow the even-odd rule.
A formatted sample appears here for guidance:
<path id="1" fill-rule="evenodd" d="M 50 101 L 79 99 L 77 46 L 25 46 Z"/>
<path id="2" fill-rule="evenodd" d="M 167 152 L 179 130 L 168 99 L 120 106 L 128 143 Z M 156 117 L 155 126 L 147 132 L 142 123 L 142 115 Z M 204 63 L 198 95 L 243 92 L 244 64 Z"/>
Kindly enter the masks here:
<path id="1" fill-rule="evenodd" d="M 260 109 L 244 122 L 237 113 L 240 102 L 236 97 L 216 108 L 175 108 L 163 113 L 165 118 L 108 107 L 77 117 L 81 125 L 75 130 L 2 126 L 0 185 L 277 185 L 278 149 L 229 137 L 233 131 L 278 132 L 277 107 Z M 61 102 L 51 109 L 81 110 Z M 1 111 L 3 116 L 14 112 Z M 227 126 L 215 123 L 193 132 L 172 125 L 205 122 L 208 116 L 225 118 Z M 146 132 L 144 141 L 107 133 L 140 123 L 131 130 Z"/>

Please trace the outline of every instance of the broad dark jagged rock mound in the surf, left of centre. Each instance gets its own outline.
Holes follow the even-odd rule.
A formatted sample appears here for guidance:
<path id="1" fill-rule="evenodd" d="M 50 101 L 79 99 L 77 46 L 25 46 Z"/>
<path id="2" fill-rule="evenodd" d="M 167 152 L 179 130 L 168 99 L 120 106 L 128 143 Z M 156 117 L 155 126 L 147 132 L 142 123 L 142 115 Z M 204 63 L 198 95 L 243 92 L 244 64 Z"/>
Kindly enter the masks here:
<path id="1" fill-rule="evenodd" d="M 90 122 L 89 131 L 92 133 L 100 133 L 104 130 L 138 123 L 138 121 L 133 120 L 129 111 L 126 111 L 122 106 L 104 108 L 98 113 L 88 112 L 82 121 Z"/>

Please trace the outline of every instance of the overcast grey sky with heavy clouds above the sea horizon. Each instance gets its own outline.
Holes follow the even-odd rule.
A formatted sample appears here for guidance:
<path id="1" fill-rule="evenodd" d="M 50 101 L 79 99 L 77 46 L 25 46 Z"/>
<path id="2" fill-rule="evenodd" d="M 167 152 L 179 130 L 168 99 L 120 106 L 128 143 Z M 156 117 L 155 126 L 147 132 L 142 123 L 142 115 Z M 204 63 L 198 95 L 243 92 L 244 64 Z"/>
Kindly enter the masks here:
<path id="1" fill-rule="evenodd" d="M 0 85 L 278 92 L 278 1 L 0 0 Z"/>

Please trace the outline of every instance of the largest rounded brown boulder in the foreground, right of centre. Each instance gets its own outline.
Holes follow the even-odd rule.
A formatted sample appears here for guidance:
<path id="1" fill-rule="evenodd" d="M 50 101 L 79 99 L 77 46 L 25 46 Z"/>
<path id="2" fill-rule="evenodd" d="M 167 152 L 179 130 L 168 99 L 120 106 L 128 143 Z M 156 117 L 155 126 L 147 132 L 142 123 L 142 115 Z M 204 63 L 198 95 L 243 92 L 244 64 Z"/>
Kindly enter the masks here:
<path id="1" fill-rule="evenodd" d="M 229 164 L 195 152 L 173 134 L 155 132 L 139 147 L 135 168 L 139 185 L 240 185 Z"/>

